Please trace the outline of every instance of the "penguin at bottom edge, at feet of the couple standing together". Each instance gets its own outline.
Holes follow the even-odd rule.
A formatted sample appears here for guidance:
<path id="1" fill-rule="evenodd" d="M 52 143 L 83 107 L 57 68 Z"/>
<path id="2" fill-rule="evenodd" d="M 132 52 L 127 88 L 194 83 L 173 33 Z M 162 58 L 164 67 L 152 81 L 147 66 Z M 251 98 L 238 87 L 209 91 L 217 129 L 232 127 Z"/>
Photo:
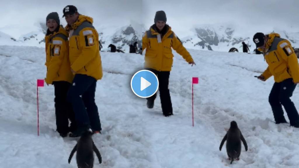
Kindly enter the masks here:
<path id="1" fill-rule="evenodd" d="M 74 149 L 71 151 L 71 154 L 68 158 L 68 163 L 71 162 L 71 159 L 76 151 L 77 151 L 76 160 L 77 160 L 78 168 L 93 168 L 93 164 L 94 164 L 93 152 L 96 153 L 100 164 L 102 163 L 101 154 L 97 149 L 97 147 L 94 145 L 94 141 L 92 140 L 91 135 L 92 135 L 91 130 L 88 130 L 81 135 L 77 144 L 74 146 Z"/>

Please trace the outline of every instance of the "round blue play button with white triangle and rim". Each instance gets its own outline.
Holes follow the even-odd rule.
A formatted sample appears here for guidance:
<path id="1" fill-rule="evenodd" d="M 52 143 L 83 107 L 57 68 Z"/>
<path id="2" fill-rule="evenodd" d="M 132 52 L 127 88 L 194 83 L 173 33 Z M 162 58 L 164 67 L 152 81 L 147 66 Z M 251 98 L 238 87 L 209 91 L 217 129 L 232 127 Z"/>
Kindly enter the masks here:
<path id="1" fill-rule="evenodd" d="M 138 71 L 131 79 L 131 88 L 138 97 L 151 97 L 158 91 L 158 77 L 149 70 Z"/>

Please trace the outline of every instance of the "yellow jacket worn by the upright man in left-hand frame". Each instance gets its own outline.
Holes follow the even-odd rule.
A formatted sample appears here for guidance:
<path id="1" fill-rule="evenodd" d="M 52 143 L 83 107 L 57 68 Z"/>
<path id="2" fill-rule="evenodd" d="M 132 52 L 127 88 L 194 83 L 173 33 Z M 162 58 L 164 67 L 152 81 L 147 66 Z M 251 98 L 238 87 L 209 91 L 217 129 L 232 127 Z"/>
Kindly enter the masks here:
<path id="1" fill-rule="evenodd" d="M 80 15 L 77 22 L 65 29 L 69 32 L 69 58 L 75 74 L 86 74 L 100 80 L 103 77 L 99 51 L 99 35 L 93 19 Z"/>

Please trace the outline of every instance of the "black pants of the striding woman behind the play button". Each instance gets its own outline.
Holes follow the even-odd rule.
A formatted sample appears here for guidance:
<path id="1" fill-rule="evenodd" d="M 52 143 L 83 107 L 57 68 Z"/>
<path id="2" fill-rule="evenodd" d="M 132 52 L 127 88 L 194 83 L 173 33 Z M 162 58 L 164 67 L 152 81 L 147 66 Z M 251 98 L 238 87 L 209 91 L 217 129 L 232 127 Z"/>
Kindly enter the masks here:
<path id="1" fill-rule="evenodd" d="M 159 80 L 159 93 L 164 115 L 173 114 L 170 93 L 168 89 L 170 71 L 156 71 L 154 69 L 147 69 L 157 75 Z M 155 101 L 157 93 L 152 97 L 148 97 L 147 101 Z"/>

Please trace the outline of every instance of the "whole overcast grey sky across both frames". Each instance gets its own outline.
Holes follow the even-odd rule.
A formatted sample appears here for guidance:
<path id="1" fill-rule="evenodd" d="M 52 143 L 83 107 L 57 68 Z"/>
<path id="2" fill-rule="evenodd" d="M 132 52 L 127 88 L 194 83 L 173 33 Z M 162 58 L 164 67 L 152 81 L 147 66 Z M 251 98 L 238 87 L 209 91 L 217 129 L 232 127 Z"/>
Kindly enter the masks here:
<path id="1" fill-rule="evenodd" d="M 54 11 L 65 26 L 62 9 L 68 4 L 93 17 L 95 27 L 122 27 L 132 20 L 148 29 L 154 23 L 155 12 L 164 10 L 167 23 L 182 36 L 194 25 L 222 22 L 261 31 L 291 26 L 299 30 L 299 0 L 1 0 L 0 31 L 13 31 L 17 36 L 45 22 L 47 14 Z M 8 25 L 21 25 L 23 29 L 17 32 Z"/>

